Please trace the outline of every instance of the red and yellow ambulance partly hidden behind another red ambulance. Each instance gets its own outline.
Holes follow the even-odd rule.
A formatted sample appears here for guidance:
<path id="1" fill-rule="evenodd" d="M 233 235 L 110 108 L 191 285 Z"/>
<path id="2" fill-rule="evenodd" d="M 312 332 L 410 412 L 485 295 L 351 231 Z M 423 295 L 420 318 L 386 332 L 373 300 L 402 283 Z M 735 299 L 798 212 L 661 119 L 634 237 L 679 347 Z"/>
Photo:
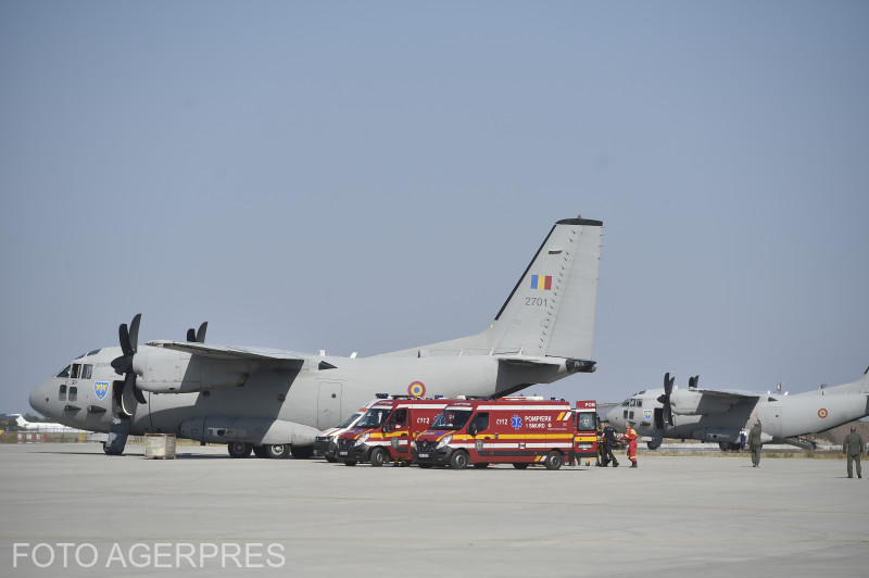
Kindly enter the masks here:
<path id="1" fill-rule="evenodd" d="M 338 437 L 336 458 L 354 466 L 368 462 L 411 462 L 411 444 L 452 400 L 393 398 L 381 400 L 351 428 Z"/>

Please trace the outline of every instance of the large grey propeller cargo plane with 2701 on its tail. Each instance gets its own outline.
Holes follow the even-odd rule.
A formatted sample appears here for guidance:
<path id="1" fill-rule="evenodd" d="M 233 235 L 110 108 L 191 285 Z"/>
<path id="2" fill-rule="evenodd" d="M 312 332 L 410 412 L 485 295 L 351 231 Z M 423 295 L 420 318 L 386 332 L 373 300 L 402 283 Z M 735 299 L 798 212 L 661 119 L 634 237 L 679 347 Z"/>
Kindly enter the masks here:
<path id="1" fill-rule="evenodd" d="M 602 233 L 600 221 L 558 221 L 492 324 L 473 336 L 339 357 L 205 343 L 202 324 L 186 341 L 139 345 L 136 315 L 118 328 L 119 347 L 76 357 L 30 394 L 30 405 L 109 432 L 106 454 L 121 454 L 130 434 L 172 432 L 227 443 L 234 457 L 303 457 L 318 430 L 378 392 L 502 397 L 593 372 Z"/>

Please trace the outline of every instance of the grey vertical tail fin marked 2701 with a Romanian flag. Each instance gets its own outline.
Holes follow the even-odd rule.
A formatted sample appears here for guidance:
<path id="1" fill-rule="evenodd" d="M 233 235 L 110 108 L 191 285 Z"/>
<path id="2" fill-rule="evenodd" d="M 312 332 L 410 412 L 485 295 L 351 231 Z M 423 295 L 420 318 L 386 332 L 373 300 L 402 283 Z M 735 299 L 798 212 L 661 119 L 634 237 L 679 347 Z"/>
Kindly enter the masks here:
<path id="1" fill-rule="evenodd" d="M 558 221 L 490 329 L 495 351 L 591 360 L 603 223 Z"/>

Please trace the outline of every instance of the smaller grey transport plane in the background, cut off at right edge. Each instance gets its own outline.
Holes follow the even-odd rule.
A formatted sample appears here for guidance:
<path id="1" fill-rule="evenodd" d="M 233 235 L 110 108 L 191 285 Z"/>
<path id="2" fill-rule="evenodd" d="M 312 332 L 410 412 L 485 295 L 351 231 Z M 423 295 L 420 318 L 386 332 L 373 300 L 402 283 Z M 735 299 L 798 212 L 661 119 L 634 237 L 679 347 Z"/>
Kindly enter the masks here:
<path id="1" fill-rule="evenodd" d="M 698 387 L 700 376 L 688 389 L 673 387 L 664 376 L 664 388 L 634 393 L 607 414 L 617 428 L 633 422 L 640 436 L 651 436 L 650 450 L 663 438 L 717 441 L 721 450 L 740 448 L 740 430 L 759 418 L 764 443 L 790 443 L 814 448 L 799 437 L 818 434 L 869 415 L 869 367 L 860 379 L 836 387 L 820 387 L 795 395 Z"/>

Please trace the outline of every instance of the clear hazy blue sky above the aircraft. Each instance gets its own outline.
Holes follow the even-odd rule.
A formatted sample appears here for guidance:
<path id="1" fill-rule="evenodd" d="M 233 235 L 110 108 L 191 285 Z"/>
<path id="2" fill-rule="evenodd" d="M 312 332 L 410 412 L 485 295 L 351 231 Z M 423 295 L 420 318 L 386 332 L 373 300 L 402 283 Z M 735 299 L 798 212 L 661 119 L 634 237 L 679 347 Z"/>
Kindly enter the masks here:
<path id="1" fill-rule="evenodd" d="M 869 3 L 0 2 L 0 411 L 210 322 L 361 355 L 488 326 L 604 221 L 599 372 L 869 365 Z"/>

